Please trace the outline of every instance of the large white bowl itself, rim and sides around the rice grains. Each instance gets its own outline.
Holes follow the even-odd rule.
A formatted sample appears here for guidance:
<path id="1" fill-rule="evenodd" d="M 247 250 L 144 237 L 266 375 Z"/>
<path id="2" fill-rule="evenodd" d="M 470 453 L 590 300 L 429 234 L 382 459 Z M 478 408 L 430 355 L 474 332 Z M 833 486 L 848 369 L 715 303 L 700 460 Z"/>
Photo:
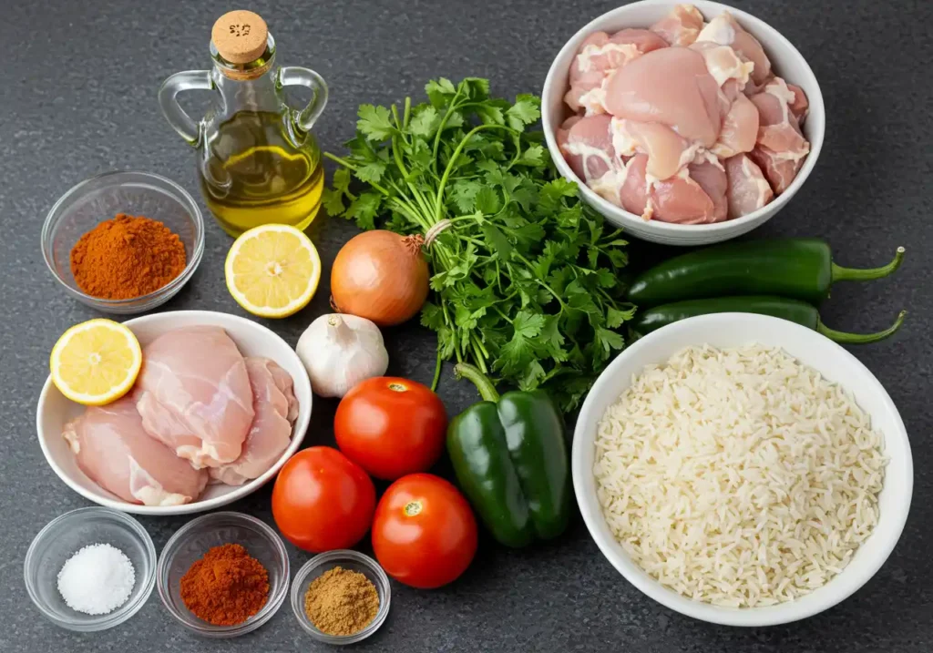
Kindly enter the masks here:
<path id="1" fill-rule="evenodd" d="M 689 345 L 708 343 L 736 347 L 750 342 L 780 347 L 829 381 L 851 391 L 857 404 L 871 416 L 871 424 L 884 435 L 884 489 L 879 494 L 880 518 L 852 562 L 818 590 L 796 601 L 767 607 L 729 608 L 691 600 L 661 585 L 636 565 L 613 537 L 596 497 L 593 477 L 596 424 L 603 413 L 645 366 L 666 362 Z M 730 626 L 771 626 L 811 617 L 838 604 L 874 576 L 898 542 L 911 506 L 913 463 L 911 444 L 891 397 L 855 356 L 835 342 L 806 327 L 749 313 L 717 313 L 692 317 L 663 327 L 638 340 L 619 354 L 592 386 L 583 402 L 574 433 L 571 467 L 574 492 L 583 515 L 608 561 L 636 588 L 672 610 L 711 623 Z"/>

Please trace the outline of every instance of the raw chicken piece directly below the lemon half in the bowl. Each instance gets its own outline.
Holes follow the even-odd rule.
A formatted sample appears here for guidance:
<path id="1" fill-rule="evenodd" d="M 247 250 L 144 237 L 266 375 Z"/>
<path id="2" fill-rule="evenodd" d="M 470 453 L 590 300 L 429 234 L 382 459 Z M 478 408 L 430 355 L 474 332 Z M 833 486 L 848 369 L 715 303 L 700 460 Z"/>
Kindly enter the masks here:
<path id="1" fill-rule="evenodd" d="M 77 466 L 104 490 L 146 506 L 179 506 L 198 498 L 207 472 L 150 437 L 132 398 L 91 407 L 62 433 Z"/>

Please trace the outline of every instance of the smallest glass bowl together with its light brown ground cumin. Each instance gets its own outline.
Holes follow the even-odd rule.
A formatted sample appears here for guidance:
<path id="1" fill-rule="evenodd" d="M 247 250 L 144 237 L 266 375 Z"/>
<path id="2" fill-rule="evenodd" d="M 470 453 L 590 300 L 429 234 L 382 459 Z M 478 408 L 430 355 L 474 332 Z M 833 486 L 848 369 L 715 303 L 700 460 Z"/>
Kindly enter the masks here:
<path id="1" fill-rule="evenodd" d="M 321 553 L 295 575 L 291 604 L 301 628 L 319 642 L 354 644 L 379 630 L 392 590 L 383 568 L 358 551 Z"/>

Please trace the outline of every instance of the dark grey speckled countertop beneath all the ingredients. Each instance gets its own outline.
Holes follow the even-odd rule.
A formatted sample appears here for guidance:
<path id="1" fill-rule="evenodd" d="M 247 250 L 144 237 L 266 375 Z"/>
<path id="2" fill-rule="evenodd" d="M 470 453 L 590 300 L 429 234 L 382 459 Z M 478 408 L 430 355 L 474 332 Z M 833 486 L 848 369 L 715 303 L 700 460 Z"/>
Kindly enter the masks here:
<path id="1" fill-rule="evenodd" d="M 881 571 L 854 596 L 815 618 L 768 629 L 704 624 L 667 610 L 622 579 L 577 520 L 559 541 L 510 551 L 482 541 L 452 586 L 417 591 L 393 584 L 392 612 L 366 650 L 686 651 L 739 653 L 927 653 L 933 650 L 933 5 L 734 0 L 770 22 L 808 58 L 826 100 L 827 139 L 814 174 L 759 237 L 829 239 L 837 260 L 886 261 L 899 244 L 907 262 L 894 280 L 844 285 L 823 316 L 833 327 L 886 326 L 912 314 L 893 340 L 854 350 L 884 383 L 911 434 L 915 484 L 907 528 Z M 279 63 L 325 76 L 330 104 L 322 146 L 353 132 L 357 104 L 420 96 L 427 79 L 484 76 L 504 95 L 538 92 L 557 50 L 613 0 L 427 3 L 419 0 L 247 3 L 270 23 Z M 193 155 L 161 117 L 156 90 L 175 71 L 204 68 L 216 0 L 3 3 L 0 43 L 0 651 L 323 650 L 299 630 L 288 605 L 235 641 L 204 641 L 177 627 L 153 595 L 122 626 L 97 634 L 59 630 L 39 616 L 22 584 L 35 533 L 66 510 L 89 505 L 46 465 L 35 440 L 35 403 L 59 334 L 95 314 L 64 296 L 39 251 L 51 204 L 92 175 L 138 169 L 167 175 L 197 193 Z M 326 270 L 353 232 L 330 220 L 318 247 Z M 209 220 L 201 268 L 165 310 L 244 314 L 224 286 L 230 239 Z M 660 248 L 633 243 L 636 258 Z M 645 253 L 643 256 L 640 253 Z M 326 277 L 327 278 L 327 277 Z M 324 283 L 326 283 L 326 278 Z M 323 285 L 322 287 L 327 287 Z M 327 293 L 269 326 L 294 343 Z M 433 340 L 420 327 L 389 330 L 391 371 L 429 380 Z M 451 413 L 474 400 L 445 376 Z M 332 441 L 333 402 L 315 402 L 307 444 Z M 270 488 L 232 506 L 272 523 Z M 185 518 L 142 520 L 161 549 Z M 293 569 L 308 554 L 290 548 Z"/>

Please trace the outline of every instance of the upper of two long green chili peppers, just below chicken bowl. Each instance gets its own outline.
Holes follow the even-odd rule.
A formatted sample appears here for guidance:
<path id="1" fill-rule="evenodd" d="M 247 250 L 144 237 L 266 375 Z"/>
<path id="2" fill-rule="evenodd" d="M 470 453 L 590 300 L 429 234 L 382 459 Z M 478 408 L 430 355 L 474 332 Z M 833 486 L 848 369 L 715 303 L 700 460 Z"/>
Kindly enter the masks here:
<path id="1" fill-rule="evenodd" d="M 776 295 L 813 305 L 829 297 L 837 281 L 886 277 L 900 267 L 904 248 L 887 265 L 871 270 L 832 262 L 829 244 L 815 238 L 729 243 L 664 261 L 638 275 L 629 300 L 649 308 L 682 299 Z"/>

